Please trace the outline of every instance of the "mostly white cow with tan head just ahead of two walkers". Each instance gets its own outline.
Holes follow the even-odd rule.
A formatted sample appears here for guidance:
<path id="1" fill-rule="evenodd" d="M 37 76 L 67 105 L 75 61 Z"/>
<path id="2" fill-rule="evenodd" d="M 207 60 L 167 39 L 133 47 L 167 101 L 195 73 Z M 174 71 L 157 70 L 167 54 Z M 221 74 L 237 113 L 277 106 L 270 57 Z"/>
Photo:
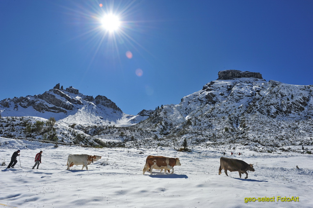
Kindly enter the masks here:
<path id="1" fill-rule="evenodd" d="M 72 167 L 73 165 L 83 165 L 83 168 L 81 170 L 83 170 L 84 167 L 86 167 L 86 170 L 88 170 L 87 165 L 100 159 L 101 159 L 101 156 L 97 156 L 97 155 L 94 155 L 94 156 L 86 155 L 86 154 L 69 155 L 67 159 L 66 170 L 69 170 L 69 167 Z"/>

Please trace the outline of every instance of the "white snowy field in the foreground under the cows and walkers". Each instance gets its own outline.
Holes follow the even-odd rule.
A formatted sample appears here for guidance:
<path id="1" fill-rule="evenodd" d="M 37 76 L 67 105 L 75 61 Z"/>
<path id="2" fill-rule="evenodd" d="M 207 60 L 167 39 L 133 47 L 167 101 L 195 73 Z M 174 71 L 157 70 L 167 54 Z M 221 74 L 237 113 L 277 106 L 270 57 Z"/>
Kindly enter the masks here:
<path id="1" fill-rule="evenodd" d="M 0 207 L 9 208 L 97 208 L 97 207 L 313 207 L 312 155 L 269 154 L 236 150 L 243 155 L 227 157 L 253 163 L 255 172 L 248 179 L 238 172 L 218 175 L 220 150 L 195 148 L 178 153 L 171 148 L 122 149 L 82 148 L 34 141 L 0 138 Z M 21 156 L 13 169 L 6 169 L 14 151 Z M 42 164 L 32 170 L 40 150 Z M 142 152 L 143 154 L 139 154 Z M 101 155 L 81 170 L 82 165 L 66 169 L 69 154 Z M 179 157 L 181 166 L 174 174 L 157 170 L 153 175 L 142 169 L 147 155 Z M 19 161 L 20 159 L 20 161 Z M 103 165 L 103 163 L 109 163 Z M 257 163 L 257 166 L 256 166 Z M 22 168 L 20 167 L 20 164 Z M 296 165 L 300 169 L 296 169 Z M 277 201 L 277 197 L 299 197 L 299 201 Z M 245 203 L 248 197 L 256 201 Z M 258 201 L 268 197 L 275 201 Z M 286 199 L 287 199 L 286 198 Z M 297 199 L 297 198 L 295 198 Z"/>

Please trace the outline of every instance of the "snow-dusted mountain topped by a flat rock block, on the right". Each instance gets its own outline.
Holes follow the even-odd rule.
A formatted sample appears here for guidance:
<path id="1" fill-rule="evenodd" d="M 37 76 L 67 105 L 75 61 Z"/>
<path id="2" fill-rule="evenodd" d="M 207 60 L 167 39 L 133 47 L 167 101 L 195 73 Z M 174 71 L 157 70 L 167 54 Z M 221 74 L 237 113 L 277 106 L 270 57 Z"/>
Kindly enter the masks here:
<path id="1" fill-rule="evenodd" d="M 235 78 L 233 78 L 235 77 Z M 164 105 L 138 128 L 172 142 L 242 143 L 255 146 L 313 144 L 313 85 L 262 79 L 226 70 L 203 89 Z"/>

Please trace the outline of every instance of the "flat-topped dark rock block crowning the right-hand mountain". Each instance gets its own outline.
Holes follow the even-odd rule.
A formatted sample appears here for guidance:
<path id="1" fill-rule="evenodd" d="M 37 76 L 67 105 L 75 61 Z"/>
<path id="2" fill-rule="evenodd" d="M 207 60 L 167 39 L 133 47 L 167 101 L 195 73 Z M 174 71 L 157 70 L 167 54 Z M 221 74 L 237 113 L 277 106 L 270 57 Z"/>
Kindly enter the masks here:
<path id="1" fill-rule="evenodd" d="M 239 71 L 239 70 L 223 70 L 218 72 L 218 79 L 229 80 L 234 78 L 257 78 L 263 79 L 259 72 Z M 265 80 L 264 80 L 265 81 Z"/>

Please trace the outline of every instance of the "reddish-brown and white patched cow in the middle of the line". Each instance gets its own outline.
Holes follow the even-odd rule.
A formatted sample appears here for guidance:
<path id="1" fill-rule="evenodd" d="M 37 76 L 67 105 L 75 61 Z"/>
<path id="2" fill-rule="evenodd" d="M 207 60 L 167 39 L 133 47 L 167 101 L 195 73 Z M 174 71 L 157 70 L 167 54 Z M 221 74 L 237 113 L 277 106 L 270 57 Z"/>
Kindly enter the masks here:
<path id="1" fill-rule="evenodd" d="M 174 173 L 174 166 L 175 165 L 181 165 L 179 158 L 169 158 L 169 157 L 163 157 L 163 156 L 152 156 L 149 155 L 146 159 L 145 167 L 143 168 L 143 173 L 147 170 L 150 171 L 150 174 L 152 174 L 152 169 L 161 170 L 164 169 L 164 173 L 166 170 L 170 172 L 172 170 L 172 173 Z"/>

